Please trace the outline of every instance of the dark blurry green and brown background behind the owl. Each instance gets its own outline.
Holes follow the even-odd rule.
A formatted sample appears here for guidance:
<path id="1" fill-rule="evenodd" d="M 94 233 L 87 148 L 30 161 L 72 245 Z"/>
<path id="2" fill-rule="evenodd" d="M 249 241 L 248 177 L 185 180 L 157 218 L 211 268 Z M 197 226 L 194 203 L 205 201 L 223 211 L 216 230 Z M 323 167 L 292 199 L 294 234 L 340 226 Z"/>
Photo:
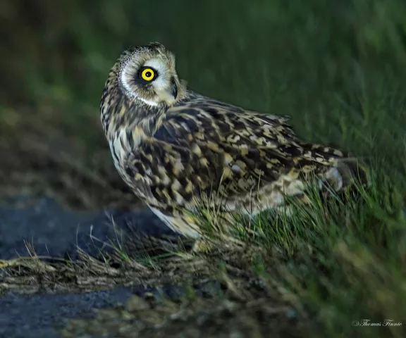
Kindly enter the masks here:
<path id="1" fill-rule="evenodd" d="M 302 137 L 402 168 L 405 15 L 401 0 L 2 1 L 1 195 L 138 205 L 98 106 L 121 51 L 152 41 L 176 54 L 190 88 L 291 115 Z"/>

